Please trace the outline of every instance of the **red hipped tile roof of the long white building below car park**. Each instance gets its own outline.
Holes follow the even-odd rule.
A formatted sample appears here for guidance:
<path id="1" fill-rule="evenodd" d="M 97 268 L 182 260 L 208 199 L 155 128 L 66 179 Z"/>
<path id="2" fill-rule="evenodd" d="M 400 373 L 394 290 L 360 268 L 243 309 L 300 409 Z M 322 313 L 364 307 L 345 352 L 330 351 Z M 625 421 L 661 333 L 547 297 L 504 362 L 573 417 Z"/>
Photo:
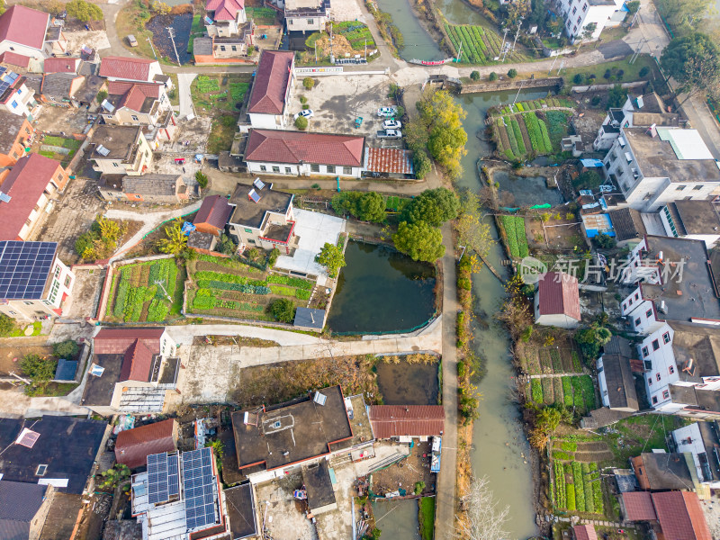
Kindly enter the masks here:
<path id="1" fill-rule="evenodd" d="M 365 138 L 302 131 L 251 130 L 246 161 L 362 166 Z"/>

